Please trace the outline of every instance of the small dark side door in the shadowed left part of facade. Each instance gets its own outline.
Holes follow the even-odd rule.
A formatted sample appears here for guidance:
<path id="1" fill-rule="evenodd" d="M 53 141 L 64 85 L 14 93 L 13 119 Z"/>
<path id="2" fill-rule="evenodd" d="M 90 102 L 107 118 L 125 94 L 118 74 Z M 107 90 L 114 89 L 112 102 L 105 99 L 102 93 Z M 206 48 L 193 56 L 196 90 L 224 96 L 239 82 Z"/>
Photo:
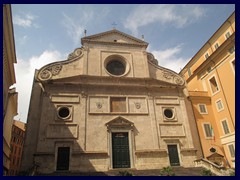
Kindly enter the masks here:
<path id="1" fill-rule="evenodd" d="M 69 170 L 70 147 L 59 147 L 57 156 L 57 170 Z"/>

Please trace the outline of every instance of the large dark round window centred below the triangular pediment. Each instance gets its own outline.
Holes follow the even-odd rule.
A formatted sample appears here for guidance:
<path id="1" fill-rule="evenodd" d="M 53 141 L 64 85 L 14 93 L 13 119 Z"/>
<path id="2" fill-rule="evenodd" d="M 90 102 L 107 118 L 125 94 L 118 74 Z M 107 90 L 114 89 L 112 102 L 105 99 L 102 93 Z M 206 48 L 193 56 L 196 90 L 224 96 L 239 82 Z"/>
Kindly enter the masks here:
<path id="1" fill-rule="evenodd" d="M 125 64 L 122 61 L 113 59 L 107 63 L 106 69 L 110 74 L 119 76 L 125 73 L 126 68 Z"/>

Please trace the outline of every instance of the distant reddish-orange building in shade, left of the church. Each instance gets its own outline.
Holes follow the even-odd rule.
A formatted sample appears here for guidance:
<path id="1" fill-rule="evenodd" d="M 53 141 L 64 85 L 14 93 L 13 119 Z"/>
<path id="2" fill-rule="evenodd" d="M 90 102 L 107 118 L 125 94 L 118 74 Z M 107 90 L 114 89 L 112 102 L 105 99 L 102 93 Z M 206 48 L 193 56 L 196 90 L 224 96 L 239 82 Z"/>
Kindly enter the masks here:
<path id="1" fill-rule="evenodd" d="M 8 171 L 9 176 L 15 176 L 19 172 L 22 159 L 25 130 L 25 123 L 16 120 L 13 121 L 10 168 Z"/>

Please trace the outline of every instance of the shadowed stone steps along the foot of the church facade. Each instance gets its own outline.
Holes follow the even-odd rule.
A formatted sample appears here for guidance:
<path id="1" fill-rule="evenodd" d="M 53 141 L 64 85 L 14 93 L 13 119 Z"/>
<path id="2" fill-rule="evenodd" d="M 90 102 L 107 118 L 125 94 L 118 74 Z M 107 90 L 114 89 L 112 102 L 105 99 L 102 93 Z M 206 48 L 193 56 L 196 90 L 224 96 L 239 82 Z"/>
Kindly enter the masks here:
<path id="1" fill-rule="evenodd" d="M 173 167 L 176 176 L 201 176 L 204 168 L 201 167 Z M 136 170 L 136 169 L 114 169 L 107 172 L 54 172 L 51 174 L 37 174 L 35 176 L 119 176 L 119 171 L 131 172 L 134 176 L 159 176 L 160 169 Z"/>

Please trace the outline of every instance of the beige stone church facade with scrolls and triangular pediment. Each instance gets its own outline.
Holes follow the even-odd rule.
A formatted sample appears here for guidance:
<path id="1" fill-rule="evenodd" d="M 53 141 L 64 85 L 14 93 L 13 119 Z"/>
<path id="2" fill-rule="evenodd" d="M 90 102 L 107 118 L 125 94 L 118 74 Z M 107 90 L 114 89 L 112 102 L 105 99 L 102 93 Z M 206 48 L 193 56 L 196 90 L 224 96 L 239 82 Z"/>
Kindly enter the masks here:
<path id="1" fill-rule="evenodd" d="M 201 150 L 185 80 L 118 30 L 81 42 L 35 72 L 21 169 L 194 166 Z"/>

